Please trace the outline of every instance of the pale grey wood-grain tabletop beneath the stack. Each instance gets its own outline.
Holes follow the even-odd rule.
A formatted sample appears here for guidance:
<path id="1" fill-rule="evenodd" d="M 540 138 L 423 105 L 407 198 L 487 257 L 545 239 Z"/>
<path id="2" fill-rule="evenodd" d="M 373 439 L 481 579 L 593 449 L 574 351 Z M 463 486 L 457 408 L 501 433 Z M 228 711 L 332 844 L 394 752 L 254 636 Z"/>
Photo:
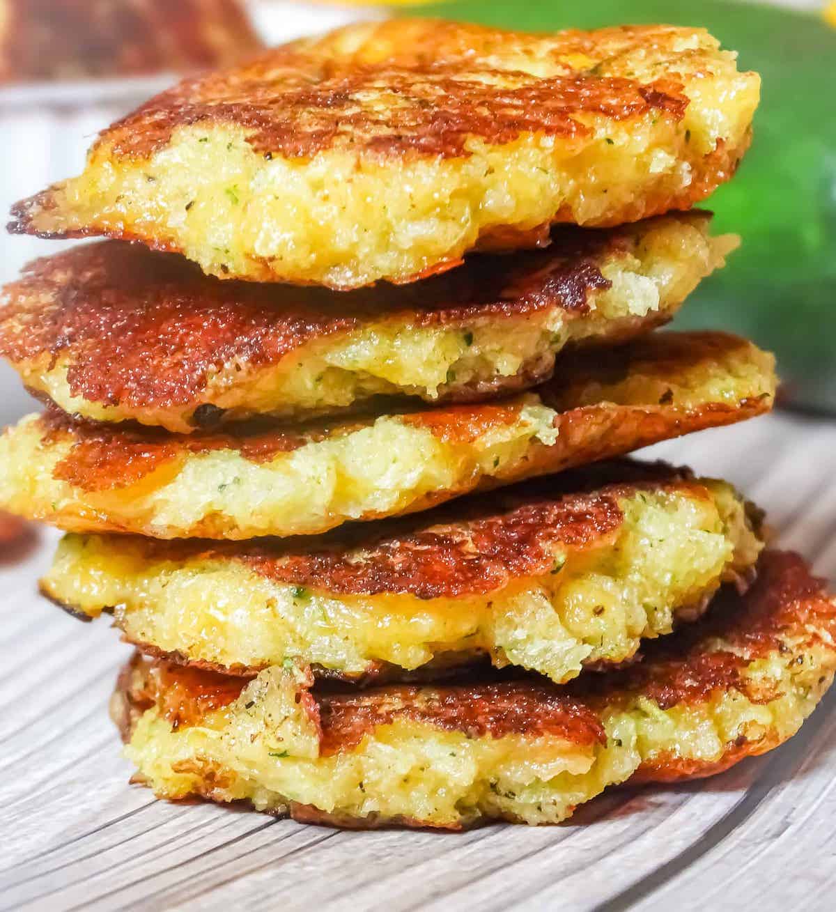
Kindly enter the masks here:
<path id="1" fill-rule="evenodd" d="M 728 477 L 836 578 L 836 423 L 783 415 L 648 451 Z M 832 907 L 836 692 L 800 735 L 703 782 L 624 789 L 569 824 L 342 833 L 127 784 L 107 700 L 129 649 L 46 605 L 56 534 L 0 565 L 0 908 Z"/>

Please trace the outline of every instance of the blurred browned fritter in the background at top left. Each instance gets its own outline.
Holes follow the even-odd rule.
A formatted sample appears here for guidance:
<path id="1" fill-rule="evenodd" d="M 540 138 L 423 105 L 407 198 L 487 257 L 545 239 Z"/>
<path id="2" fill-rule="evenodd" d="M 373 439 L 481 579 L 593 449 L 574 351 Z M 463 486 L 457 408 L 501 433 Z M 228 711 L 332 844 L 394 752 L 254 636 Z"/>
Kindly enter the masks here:
<path id="1" fill-rule="evenodd" d="M 219 67 L 261 47 L 239 0 L 0 3 L 0 82 Z"/>

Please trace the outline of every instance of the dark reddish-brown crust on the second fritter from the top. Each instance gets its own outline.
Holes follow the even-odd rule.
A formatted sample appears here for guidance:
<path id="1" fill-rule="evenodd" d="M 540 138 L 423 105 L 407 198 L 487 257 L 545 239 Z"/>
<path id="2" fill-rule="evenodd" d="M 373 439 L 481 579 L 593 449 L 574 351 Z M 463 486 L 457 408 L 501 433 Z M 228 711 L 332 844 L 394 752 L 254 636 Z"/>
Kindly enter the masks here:
<path id="1" fill-rule="evenodd" d="M 70 392 L 89 402 L 210 409 L 206 387 L 218 370 L 277 365 L 306 345 L 369 324 L 464 331 L 552 308 L 583 317 L 590 295 L 610 285 L 600 264 L 626 254 L 628 232 L 562 229 L 547 250 L 476 257 L 415 286 L 342 293 L 220 281 L 180 256 L 139 244 L 87 244 L 36 260 L 5 286 L 0 357 L 17 366 L 43 361 L 54 367 L 66 359 Z M 624 335 L 647 321 L 635 323 L 621 327 Z M 529 368 L 518 387 L 542 379 L 552 360 Z M 470 396 L 484 392 L 472 389 Z M 222 420 L 220 409 L 212 417 Z"/>

